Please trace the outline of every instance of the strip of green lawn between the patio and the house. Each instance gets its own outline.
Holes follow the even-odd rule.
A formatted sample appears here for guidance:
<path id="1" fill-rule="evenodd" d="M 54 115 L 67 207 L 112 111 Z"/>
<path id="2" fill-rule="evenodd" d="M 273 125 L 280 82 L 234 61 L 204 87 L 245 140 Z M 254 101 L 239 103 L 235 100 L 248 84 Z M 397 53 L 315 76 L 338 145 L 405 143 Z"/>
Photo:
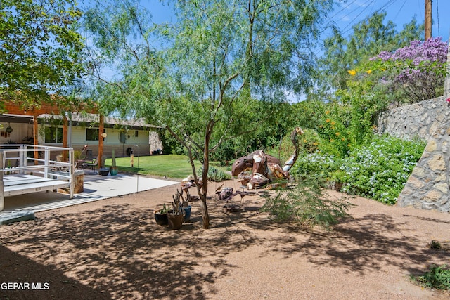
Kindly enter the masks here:
<path id="1" fill-rule="evenodd" d="M 119 171 L 127 171 L 142 175 L 167 176 L 169 178 L 186 178 L 192 174 L 191 164 L 184 155 L 152 155 L 134 157 L 134 167 L 131 167 L 129 157 L 117 157 Z M 111 159 L 106 159 L 105 166 L 111 165 Z M 138 167 L 139 166 L 139 167 Z M 195 162 L 200 169 L 200 162 Z"/>

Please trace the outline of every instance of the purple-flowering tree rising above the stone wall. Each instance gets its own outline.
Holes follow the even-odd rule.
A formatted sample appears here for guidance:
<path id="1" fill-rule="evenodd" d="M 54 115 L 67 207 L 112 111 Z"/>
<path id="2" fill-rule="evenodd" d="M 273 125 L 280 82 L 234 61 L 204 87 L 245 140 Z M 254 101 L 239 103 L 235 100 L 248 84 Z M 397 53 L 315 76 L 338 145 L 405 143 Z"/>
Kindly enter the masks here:
<path id="1" fill-rule="evenodd" d="M 387 84 L 409 103 L 441 96 L 446 77 L 447 44 L 440 37 L 391 53 L 382 51 L 371 58 L 368 68 L 382 72 L 380 83 Z"/>

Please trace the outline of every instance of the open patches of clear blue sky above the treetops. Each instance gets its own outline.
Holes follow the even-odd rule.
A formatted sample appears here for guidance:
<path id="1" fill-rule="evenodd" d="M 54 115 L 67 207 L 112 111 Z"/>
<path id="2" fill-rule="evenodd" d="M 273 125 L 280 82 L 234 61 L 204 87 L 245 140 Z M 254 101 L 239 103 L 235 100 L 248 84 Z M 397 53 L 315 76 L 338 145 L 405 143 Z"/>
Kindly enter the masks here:
<path id="1" fill-rule="evenodd" d="M 152 13 L 154 22 L 173 21 L 169 8 L 160 4 L 160 1 L 141 0 L 141 3 Z M 404 24 L 411 22 L 413 16 L 416 16 L 418 24 L 425 22 L 425 0 L 347 0 L 336 6 L 330 13 L 328 22 L 335 22 L 344 37 L 347 37 L 352 33 L 352 25 L 375 11 L 386 11 L 385 21 L 392 20 L 397 25 L 397 31 L 401 31 Z M 449 40 L 450 18 L 446 15 L 449 12 L 449 0 L 432 0 L 432 37 Z"/>

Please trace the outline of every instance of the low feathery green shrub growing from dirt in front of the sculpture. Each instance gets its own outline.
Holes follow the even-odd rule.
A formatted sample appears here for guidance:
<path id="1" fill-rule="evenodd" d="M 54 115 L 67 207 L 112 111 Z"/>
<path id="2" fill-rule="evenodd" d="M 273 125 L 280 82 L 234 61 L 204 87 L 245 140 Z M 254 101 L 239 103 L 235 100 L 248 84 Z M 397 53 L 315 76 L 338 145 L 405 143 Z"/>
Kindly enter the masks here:
<path id="1" fill-rule="evenodd" d="M 314 177 L 314 178 L 313 178 Z M 265 195 L 263 211 L 269 211 L 278 221 L 295 220 L 302 227 L 322 226 L 329 230 L 339 219 L 348 217 L 352 204 L 342 200 L 327 200 L 324 181 L 316 176 L 298 181 L 292 189 Z"/>

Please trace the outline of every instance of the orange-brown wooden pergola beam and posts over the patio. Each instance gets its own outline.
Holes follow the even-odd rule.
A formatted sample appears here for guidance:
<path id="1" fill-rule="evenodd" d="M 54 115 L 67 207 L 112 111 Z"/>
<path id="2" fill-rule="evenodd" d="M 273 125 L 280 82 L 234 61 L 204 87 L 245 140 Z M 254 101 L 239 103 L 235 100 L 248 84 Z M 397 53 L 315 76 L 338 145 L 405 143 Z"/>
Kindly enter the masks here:
<path id="1" fill-rule="evenodd" d="M 38 129 L 37 129 L 37 119 L 39 115 L 61 115 L 61 112 L 78 112 L 85 111 L 91 114 L 99 115 L 99 125 L 98 131 L 103 132 L 104 129 L 104 116 L 98 113 L 98 108 L 94 106 L 94 108 L 86 107 L 59 107 L 58 105 L 51 105 L 49 103 L 40 103 L 39 107 L 32 105 L 30 107 L 25 108 L 21 103 L 15 103 L 13 101 L 5 101 L 4 108 L 6 112 L 12 115 L 27 115 L 33 117 L 33 144 L 38 145 Z M 63 115 L 63 147 L 68 147 L 68 117 L 66 114 Z M 34 152 L 34 158 L 37 157 L 38 153 Z M 98 167 L 103 167 L 102 163 L 103 156 L 103 138 L 98 138 Z M 63 161 L 68 161 L 68 152 L 63 152 Z"/>

